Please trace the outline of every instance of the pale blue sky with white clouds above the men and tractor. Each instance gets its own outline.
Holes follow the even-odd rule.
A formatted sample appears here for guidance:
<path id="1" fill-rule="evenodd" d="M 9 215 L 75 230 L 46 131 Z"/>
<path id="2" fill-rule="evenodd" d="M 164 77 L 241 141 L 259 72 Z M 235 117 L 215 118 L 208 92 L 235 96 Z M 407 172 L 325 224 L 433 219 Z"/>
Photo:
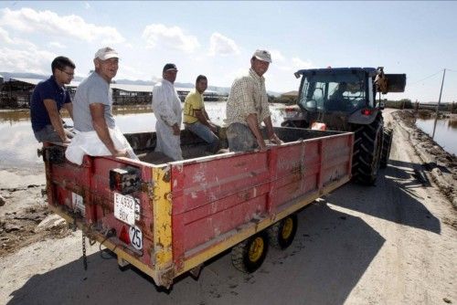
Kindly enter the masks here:
<path id="1" fill-rule="evenodd" d="M 399 100 L 457 101 L 457 2 L 0 2 L 0 71 L 50 73 L 58 55 L 88 75 L 100 47 L 118 50 L 117 79 L 229 87 L 256 48 L 271 51 L 267 89 L 298 89 L 301 68 L 385 67 L 406 73 Z"/>

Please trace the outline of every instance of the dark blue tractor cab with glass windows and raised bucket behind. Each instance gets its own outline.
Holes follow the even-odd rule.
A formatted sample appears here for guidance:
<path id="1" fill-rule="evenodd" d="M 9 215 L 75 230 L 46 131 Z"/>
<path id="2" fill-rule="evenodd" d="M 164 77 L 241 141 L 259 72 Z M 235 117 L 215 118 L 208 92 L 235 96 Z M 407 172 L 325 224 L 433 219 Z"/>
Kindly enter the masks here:
<path id="1" fill-rule="evenodd" d="M 406 75 L 385 75 L 383 68 L 316 68 L 295 72 L 302 77 L 297 105 L 285 110 L 282 126 L 350 131 L 350 124 L 369 124 L 383 108 L 377 92 L 401 92 Z M 390 81 L 392 80 L 392 81 Z"/>

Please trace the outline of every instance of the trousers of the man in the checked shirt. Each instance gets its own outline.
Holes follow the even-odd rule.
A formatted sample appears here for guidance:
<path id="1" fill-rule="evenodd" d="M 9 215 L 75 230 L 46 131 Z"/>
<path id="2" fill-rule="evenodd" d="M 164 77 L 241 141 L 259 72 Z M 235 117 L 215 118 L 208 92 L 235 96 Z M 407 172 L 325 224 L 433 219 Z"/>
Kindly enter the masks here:
<path id="1" fill-rule="evenodd" d="M 259 148 L 250 127 L 241 123 L 228 125 L 227 141 L 230 152 L 248 152 Z"/>

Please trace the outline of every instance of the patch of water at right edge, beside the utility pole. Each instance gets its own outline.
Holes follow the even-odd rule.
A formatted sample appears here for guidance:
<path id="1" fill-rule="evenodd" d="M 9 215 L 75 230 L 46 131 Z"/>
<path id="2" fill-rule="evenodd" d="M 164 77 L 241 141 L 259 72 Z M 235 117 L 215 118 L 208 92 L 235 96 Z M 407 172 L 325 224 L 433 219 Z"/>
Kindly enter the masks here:
<path id="1" fill-rule="evenodd" d="M 434 119 L 422 120 L 417 119 L 416 125 L 422 131 L 430 135 L 433 133 Z M 438 120 L 436 122 L 435 142 L 439 143 L 448 153 L 457 154 L 457 121 L 451 119 Z"/>

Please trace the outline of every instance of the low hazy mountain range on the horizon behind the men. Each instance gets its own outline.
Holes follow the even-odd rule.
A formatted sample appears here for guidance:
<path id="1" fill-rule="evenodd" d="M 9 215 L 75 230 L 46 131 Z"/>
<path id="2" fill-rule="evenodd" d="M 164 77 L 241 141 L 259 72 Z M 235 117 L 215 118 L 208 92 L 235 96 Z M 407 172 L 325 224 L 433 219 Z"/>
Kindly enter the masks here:
<path id="1" fill-rule="evenodd" d="M 0 75 L 4 78 L 5 81 L 8 81 L 11 78 L 18 78 L 18 79 L 48 79 L 49 75 L 42 75 L 42 74 L 35 74 L 35 73 L 16 73 L 16 72 L 0 72 Z M 75 77 L 74 80 L 81 81 L 84 78 Z M 146 85 L 151 86 L 154 85 L 155 82 L 152 80 L 131 80 L 131 79 L 114 79 L 116 84 L 125 84 L 125 85 Z M 194 88 L 195 84 L 193 83 L 181 83 L 175 82 L 175 87 L 180 88 Z M 208 86 L 208 90 L 213 90 L 218 92 L 219 94 L 228 94 L 230 92 L 229 87 L 216 87 L 216 86 Z M 267 91 L 268 94 L 273 95 L 275 97 L 279 97 L 281 93 L 274 92 L 274 91 Z"/>

